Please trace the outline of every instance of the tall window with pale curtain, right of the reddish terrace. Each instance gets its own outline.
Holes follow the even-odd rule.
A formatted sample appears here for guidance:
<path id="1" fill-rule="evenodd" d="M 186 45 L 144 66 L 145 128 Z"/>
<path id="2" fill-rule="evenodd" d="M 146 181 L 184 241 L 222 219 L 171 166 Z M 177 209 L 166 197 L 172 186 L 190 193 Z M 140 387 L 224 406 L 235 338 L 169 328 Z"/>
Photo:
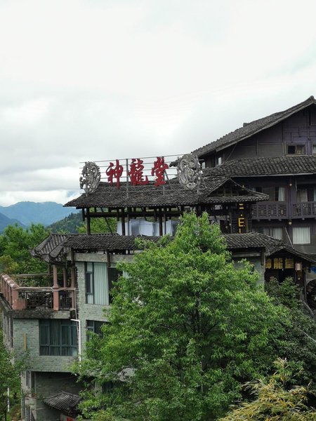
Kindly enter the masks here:
<path id="1" fill-rule="evenodd" d="M 109 305 L 112 302 L 112 283 L 121 272 L 106 263 L 86 263 L 86 303 Z"/>

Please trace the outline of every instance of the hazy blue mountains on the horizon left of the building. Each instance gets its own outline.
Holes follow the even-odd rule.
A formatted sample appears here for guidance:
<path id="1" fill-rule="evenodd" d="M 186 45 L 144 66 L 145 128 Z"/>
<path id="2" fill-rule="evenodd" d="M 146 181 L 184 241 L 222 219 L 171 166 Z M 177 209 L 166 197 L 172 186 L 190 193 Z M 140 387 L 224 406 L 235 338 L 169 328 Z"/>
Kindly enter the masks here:
<path id="1" fill-rule="evenodd" d="M 7 225 L 14 223 L 25 227 L 32 223 L 51 225 L 53 222 L 66 218 L 70 213 L 77 213 L 77 210 L 64 208 L 60 203 L 55 202 L 23 201 L 11 206 L 0 206 L 0 232 Z"/>

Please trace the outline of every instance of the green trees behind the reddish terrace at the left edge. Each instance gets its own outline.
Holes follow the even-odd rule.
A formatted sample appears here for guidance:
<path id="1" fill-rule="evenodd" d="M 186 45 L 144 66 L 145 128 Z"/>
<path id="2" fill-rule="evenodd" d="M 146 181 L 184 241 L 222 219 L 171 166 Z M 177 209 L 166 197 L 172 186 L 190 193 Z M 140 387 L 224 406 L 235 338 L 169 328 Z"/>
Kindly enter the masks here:
<path id="1" fill-rule="evenodd" d="M 29 228 L 8 225 L 0 235 L 0 268 L 8 274 L 27 274 L 46 272 L 46 265 L 34 259 L 30 248 L 38 246 L 48 231 L 41 224 L 32 224 Z"/>

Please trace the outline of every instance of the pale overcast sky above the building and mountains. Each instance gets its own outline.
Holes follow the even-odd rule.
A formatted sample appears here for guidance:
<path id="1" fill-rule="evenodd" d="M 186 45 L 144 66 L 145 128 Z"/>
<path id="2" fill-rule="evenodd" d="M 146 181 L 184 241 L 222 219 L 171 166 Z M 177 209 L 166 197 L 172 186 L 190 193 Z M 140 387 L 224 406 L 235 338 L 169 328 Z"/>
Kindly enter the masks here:
<path id="1" fill-rule="evenodd" d="M 0 205 L 316 96 L 315 0 L 0 0 Z"/>

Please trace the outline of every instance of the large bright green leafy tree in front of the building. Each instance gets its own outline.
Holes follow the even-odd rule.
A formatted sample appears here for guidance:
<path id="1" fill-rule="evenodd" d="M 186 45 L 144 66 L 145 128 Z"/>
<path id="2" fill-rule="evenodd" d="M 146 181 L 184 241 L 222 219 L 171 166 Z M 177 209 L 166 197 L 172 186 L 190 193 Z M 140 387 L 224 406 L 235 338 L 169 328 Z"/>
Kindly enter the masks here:
<path id="1" fill-rule="evenodd" d="M 183 217 L 173 241 L 143 243 L 122 264 L 103 337 L 88 342 L 82 377 L 112 392 L 84 393 L 96 420 L 213 420 L 265 375 L 277 357 L 286 312 L 236 269 L 218 225 Z M 96 408 L 103 409 L 95 413 Z M 107 410 L 107 408 L 110 408 Z M 94 414 L 94 415 L 93 415 Z"/>

